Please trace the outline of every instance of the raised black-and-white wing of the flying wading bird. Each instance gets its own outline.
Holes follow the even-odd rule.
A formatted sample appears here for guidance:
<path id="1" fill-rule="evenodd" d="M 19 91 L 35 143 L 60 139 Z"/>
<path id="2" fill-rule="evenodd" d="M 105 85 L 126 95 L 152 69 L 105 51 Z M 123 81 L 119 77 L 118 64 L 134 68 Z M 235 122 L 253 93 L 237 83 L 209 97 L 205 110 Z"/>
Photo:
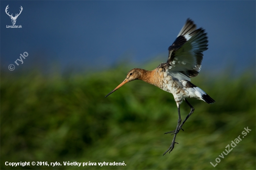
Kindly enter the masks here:
<path id="1" fill-rule="evenodd" d="M 194 22 L 188 19 L 182 30 L 169 46 L 166 67 L 168 72 L 181 72 L 188 77 L 195 77 L 201 69 L 202 52 L 207 50 L 207 36 L 202 28 L 196 29 Z"/>

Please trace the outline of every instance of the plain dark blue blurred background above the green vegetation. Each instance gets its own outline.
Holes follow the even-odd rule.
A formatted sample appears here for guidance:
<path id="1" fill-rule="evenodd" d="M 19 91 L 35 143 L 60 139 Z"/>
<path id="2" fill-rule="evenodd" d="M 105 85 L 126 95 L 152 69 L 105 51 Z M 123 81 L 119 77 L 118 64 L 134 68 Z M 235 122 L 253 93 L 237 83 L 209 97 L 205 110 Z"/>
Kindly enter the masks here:
<path id="1" fill-rule="evenodd" d="M 28 52 L 15 71 L 102 70 L 129 60 L 134 67 L 155 58 L 166 62 L 168 46 L 187 18 L 208 33 L 202 70 L 235 73 L 255 67 L 255 1 L 1 1 L 1 67 Z M 5 13 L 19 13 L 12 25 Z M 156 67 L 157 65 L 155 65 Z M 152 68 L 154 69 L 154 68 Z"/>

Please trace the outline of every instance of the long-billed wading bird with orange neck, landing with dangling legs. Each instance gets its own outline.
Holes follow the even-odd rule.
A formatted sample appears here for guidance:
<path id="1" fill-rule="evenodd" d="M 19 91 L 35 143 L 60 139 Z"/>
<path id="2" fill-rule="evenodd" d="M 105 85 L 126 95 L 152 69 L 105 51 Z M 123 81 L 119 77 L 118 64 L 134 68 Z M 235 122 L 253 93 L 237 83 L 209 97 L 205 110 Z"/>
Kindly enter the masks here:
<path id="1" fill-rule="evenodd" d="M 154 70 L 147 71 L 140 68 L 130 70 L 124 81 L 118 85 L 111 93 L 115 92 L 122 85 L 133 81 L 143 80 L 151 85 L 172 93 L 178 108 L 178 123 L 175 131 L 168 131 L 164 134 L 174 134 L 171 145 L 163 156 L 174 149 L 176 135 L 182 129 L 183 124 L 195 111 L 186 98 L 200 99 L 208 104 L 215 102 L 206 92 L 192 84 L 190 78 L 197 76 L 201 70 L 202 52 L 208 49 L 208 37 L 205 30 L 201 27 L 196 29 L 194 21 L 187 19 L 174 43 L 168 47 L 168 59 L 166 63 L 161 63 Z M 190 112 L 182 121 L 180 114 L 180 105 L 183 100 L 189 105 Z"/>

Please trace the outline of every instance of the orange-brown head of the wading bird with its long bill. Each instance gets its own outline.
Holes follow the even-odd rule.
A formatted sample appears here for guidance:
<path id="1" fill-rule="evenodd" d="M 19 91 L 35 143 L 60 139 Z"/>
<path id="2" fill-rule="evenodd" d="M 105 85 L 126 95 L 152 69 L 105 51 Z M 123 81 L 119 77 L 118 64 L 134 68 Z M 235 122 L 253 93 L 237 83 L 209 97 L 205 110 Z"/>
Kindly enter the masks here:
<path id="1" fill-rule="evenodd" d="M 111 93 L 115 92 L 117 89 L 119 89 L 122 85 L 130 82 L 130 81 L 133 81 L 133 80 L 136 80 L 136 79 L 141 79 L 141 75 L 143 74 L 143 69 L 140 69 L 140 68 L 134 68 L 132 70 L 130 70 L 128 73 L 127 73 L 127 76 L 126 78 L 124 79 L 124 81 L 118 85 L 117 87 L 115 87 L 115 89 L 113 91 L 111 91 L 110 93 L 107 94 L 107 96 L 105 96 L 105 98 L 107 98 Z"/>

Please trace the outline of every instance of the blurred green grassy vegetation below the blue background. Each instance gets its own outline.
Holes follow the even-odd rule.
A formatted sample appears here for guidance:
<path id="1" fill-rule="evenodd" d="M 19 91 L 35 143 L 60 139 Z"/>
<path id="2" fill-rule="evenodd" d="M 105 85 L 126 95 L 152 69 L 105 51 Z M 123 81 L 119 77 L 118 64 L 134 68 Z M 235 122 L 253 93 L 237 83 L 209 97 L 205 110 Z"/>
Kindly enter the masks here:
<path id="1" fill-rule="evenodd" d="M 137 80 L 104 98 L 131 68 L 51 76 L 36 70 L 1 72 L 1 169 L 256 169 L 253 73 L 192 78 L 216 103 L 188 99 L 195 112 L 177 135 L 179 144 L 162 156 L 173 139 L 163 133 L 177 124 L 173 95 Z M 183 102 L 182 120 L 189 111 Z M 249 134 L 220 158 L 232 140 L 243 136 L 244 127 Z M 221 162 L 214 168 L 210 162 L 216 164 L 217 157 Z M 12 167 L 6 161 L 62 165 Z M 64 166 L 66 161 L 124 161 L 126 166 Z"/>

